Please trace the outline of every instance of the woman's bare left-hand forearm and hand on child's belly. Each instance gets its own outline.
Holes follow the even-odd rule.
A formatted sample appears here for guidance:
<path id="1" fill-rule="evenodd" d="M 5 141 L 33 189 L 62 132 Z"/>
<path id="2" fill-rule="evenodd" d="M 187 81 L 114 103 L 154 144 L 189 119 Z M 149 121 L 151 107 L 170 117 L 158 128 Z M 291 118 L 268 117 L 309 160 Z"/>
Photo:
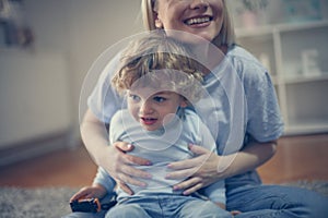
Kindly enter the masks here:
<path id="1" fill-rule="evenodd" d="M 131 193 L 124 183 L 130 183 L 139 186 L 145 185 L 143 182 L 132 179 L 131 177 L 148 178 L 149 174 L 144 171 L 134 169 L 134 165 L 150 165 L 145 159 L 126 154 L 133 149 L 133 146 L 116 142 L 108 146 L 108 133 L 105 124 L 101 122 L 91 110 L 87 110 L 81 124 L 81 135 L 83 143 L 96 165 L 103 167 L 121 187 Z M 126 189 L 125 189 L 126 187 Z M 128 192 L 129 191 L 129 192 Z"/>

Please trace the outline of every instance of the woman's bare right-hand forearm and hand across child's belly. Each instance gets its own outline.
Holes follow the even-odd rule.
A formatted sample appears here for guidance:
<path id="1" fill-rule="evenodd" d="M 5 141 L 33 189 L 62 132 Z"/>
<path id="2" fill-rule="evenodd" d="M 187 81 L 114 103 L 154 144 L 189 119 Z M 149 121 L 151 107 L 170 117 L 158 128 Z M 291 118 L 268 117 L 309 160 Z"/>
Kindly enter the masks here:
<path id="1" fill-rule="evenodd" d="M 191 178 L 176 184 L 174 190 L 185 190 L 188 195 L 197 190 L 204 187 L 218 180 L 223 180 L 236 174 L 254 170 L 269 160 L 276 153 L 277 141 L 268 143 L 251 143 L 245 146 L 241 152 L 229 156 L 220 157 L 216 154 L 209 156 L 209 150 L 191 145 L 190 150 L 198 157 L 172 162 L 168 167 L 175 172 L 167 174 L 168 179 L 185 178 L 190 172 L 196 171 Z M 230 164 L 222 170 L 220 159 L 227 160 Z M 199 166 L 201 166 L 199 168 Z M 199 169 L 198 169 L 199 168 Z"/>

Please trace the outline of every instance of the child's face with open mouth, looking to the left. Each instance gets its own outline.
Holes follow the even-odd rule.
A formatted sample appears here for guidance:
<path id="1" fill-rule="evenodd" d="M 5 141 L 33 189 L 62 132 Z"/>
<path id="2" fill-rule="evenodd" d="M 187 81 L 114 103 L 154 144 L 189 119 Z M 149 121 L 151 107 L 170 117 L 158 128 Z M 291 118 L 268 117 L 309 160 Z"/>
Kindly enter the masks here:
<path id="1" fill-rule="evenodd" d="M 185 98 L 174 92 L 156 92 L 138 87 L 128 92 L 128 109 L 132 117 L 148 131 L 154 131 L 168 123 L 178 107 L 186 107 Z"/>

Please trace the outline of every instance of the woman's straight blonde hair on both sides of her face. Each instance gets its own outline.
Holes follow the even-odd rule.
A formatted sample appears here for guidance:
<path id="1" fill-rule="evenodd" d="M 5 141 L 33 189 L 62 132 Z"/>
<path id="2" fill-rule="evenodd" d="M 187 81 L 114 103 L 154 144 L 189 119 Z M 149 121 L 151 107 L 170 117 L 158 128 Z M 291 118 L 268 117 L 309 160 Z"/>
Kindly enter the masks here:
<path id="1" fill-rule="evenodd" d="M 154 13 L 156 13 L 157 10 L 156 1 L 157 0 L 141 1 L 142 21 L 145 29 L 148 31 L 156 29 L 155 17 L 154 17 Z M 225 3 L 225 0 L 222 1 L 223 1 L 223 24 L 219 35 L 212 40 L 212 43 L 216 47 L 232 46 L 233 44 L 235 44 L 235 32 L 233 28 L 232 19 L 229 14 L 229 9 Z"/>

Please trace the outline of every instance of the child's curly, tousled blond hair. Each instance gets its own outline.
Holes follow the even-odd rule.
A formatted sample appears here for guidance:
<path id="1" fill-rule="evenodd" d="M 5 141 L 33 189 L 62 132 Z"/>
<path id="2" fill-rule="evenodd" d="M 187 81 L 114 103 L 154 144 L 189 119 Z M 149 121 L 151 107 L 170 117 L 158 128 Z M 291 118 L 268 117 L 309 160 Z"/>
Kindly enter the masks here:
<path id="1" fill-rule="evenodd" d="M 187 47 L 156 31 L 128 45 L 112 84 L 119 94 L 136 86 L 153 87 L 192 102 L 202 96 L 202 69 Z"/>

